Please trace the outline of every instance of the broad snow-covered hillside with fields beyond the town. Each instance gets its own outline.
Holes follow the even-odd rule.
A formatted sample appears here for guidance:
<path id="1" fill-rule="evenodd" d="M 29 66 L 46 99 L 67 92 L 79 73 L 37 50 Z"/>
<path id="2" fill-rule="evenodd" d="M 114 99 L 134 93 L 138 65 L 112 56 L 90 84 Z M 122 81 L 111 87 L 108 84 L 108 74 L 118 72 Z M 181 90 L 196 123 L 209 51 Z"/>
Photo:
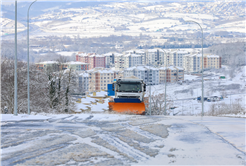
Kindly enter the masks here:
<path id="1" fill-rule="evenodd" d="M 185 26 L 184 22 L 180 22 L 183 18 L 201 22 L 204 32 L 208 33 L 216 31 L 244 32 L 245 29 L 245 21 L 240 20 L 240 17 L 244 15 L 244 7 L 240 2 L 165 4 L 112 2 L 85 7 L 72 5 L 69 8 L 68 5 L 66 8 L 54 7 L 43 11 L 44 14 L 30 18 L 30 25 L 41 30 L 31 37 L 39 35 L 73 37 L 80 34 L 80 37 L 88 38 L 110 35 L 139 36 L 141 33 L 161 37 L 162 32 L 167 33 L 167 30 L 199 30 L 196 25 Z M 220 24 L 217 20 L 221 19 L 223 22 Z M 11 22 L 13 21 L 11 20 Z M 4 34 L 13 33 L 11 25 L 2 25 L 5 29 Z"/>

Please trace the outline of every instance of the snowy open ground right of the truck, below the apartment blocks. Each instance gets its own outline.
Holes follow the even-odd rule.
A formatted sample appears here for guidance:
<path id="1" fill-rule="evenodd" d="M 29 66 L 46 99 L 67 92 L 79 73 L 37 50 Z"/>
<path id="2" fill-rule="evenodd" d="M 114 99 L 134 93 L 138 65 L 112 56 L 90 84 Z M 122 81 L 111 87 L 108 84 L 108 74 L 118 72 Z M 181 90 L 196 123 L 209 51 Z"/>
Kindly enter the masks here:
<path id="1" fill-rule="evenodd" d="M 226 104 L 233 108 L 233 105 L 240 104 L 244 108 L 244 113 L 223 116 L 245 117 L 246 110 L 246 66 L 237 68 L 233 78 L 229 75 L 229 70 L 226 66 L 223 73 L 206 71 L 204 72 L 204 97 L 224 96 L 224 99 L 216 102 L 204 102 L 204 112 L 211 111 L 212 105 L 216 105 L 215 109 L 219 109 L 220 105 Z M 226 79 L 219 79 L 220 76 L 225 76 Z M 169 107 L 176 107 L 173 110 L 169 109 L 170 114 L 178 113 L 183 115 L 200 115 L 202 111 L 201 102 L 197 101 L 197 97 L 202 95 L 201 76 L 185 75 L 185 83 L 167 84 L 167 98 L 170 100 Z M 146 88 L 149 93 L 149 87 Z M 155 85 L 151 87 L 152 95 L 164 94 L 165 85 Z"/>

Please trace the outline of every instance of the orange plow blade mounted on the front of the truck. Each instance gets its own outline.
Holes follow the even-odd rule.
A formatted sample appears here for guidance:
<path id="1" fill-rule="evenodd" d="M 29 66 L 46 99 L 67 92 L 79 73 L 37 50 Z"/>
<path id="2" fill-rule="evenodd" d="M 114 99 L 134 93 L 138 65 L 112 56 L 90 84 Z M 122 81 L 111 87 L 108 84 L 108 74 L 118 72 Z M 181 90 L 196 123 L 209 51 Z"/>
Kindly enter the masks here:
<path id="1" fill-rule="evenodd" d="M 143 115 L 145 113 L 145 104 L 142 103 L 115 103 L 109 102 L 109 110 L 126 114 Z"/>

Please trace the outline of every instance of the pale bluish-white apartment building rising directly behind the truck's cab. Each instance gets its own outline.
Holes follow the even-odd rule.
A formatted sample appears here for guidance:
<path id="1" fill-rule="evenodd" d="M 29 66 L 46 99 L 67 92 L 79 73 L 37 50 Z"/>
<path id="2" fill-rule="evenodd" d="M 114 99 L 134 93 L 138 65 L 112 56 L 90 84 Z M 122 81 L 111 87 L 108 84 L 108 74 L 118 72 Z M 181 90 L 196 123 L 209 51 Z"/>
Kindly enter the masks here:
<path id="1" fill-rule="evenodd" d="M 151 85 L 159 84 L 159 70 L 154 67 L 139 65 L 124 70 L 124 78 L 135 76 Z"/>

